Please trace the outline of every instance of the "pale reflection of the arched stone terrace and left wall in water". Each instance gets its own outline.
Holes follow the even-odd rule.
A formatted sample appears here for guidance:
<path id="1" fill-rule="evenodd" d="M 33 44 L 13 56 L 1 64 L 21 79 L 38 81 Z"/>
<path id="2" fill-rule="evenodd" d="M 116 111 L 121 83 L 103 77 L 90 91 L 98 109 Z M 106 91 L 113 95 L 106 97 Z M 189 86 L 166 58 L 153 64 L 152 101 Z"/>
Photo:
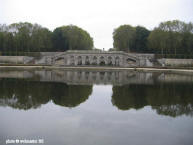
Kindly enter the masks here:
<path id="1" fill-rule="evenodd" d="M 31 71 L 1 71 L 0 78 L 21 78 L 41 82 L 60 82 L 69 85 L 92 84 L 151 84 L 152 73 L 118 70 L 31 70 Z"/>

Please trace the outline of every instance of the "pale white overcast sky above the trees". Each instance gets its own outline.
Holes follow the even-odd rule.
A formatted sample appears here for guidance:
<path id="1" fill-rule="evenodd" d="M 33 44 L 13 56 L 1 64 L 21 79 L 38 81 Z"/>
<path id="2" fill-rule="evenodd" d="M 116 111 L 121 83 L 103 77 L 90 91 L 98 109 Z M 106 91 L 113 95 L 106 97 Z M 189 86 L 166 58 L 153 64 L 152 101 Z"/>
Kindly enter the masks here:
<path id="1" fill-rule="evenodd" d="M 53 30 L 77 25 L 96 48 L 113 47 L 112 33 L 123 24 L 153 29 L 162 21 L 193 22 L 193 0 L 0 0 L 0 23 L 38 23 Z"/>

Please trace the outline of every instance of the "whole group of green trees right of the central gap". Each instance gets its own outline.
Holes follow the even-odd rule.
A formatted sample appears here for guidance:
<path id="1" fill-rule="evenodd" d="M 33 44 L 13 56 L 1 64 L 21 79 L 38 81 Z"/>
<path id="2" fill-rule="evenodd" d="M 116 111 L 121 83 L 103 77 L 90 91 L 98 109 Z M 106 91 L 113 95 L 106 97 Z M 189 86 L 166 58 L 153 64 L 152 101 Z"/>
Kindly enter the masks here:
<path id="1" fill-rule="evenodd" d="M 121 25 L 113 32 L 114 50 L 193 57 L 193 23 L 161 22 L 152 31 L 142 26 Z"/>

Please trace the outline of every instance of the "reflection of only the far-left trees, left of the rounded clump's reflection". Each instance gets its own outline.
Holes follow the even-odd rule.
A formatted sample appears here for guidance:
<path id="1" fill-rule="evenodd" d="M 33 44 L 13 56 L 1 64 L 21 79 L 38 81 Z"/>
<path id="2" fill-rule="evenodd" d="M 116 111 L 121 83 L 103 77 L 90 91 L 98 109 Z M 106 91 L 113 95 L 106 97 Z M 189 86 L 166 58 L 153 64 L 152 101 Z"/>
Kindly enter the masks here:
<path id="1" fill-rule="evenodd" d="M 39 82 L 3 79 L 0 81 L 0 100 L 3 105 L 13 108 L 37 108 L 49 101 L 47 90 L 47 87 Z"/>

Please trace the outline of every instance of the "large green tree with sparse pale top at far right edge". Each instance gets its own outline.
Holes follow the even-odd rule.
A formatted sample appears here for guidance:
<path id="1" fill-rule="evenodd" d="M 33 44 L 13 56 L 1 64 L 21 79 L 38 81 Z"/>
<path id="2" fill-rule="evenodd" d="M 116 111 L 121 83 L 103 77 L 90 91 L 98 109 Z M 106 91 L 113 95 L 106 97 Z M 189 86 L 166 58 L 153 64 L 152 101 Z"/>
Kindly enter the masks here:
<path id="1" fill-rule="evenodd" d="M 193 24 L 179 20 L 159 24 L 148 37 L 152 52 L 162 54 L 193 54 Z"/>

